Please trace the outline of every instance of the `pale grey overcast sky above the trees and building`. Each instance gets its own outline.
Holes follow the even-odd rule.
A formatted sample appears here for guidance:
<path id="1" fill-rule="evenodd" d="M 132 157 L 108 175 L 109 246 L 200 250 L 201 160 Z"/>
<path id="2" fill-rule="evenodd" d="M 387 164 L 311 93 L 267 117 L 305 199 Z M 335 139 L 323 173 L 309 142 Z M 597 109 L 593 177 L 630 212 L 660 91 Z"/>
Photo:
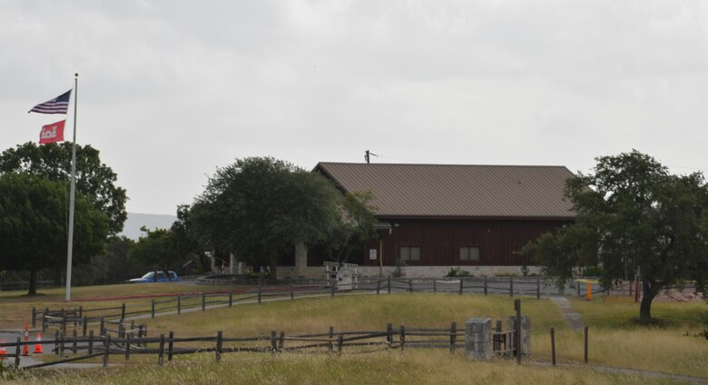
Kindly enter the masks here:
<path id="1" fill-rule="evenodd" d="M 216 167 L 553 164 L 633 148 L 708 168 L 701 1 L 0 0 L 0 150 L 63 115 L 129 212 L 173 214 Z M 72 116 L 67 120 L 71 135 Z"/>

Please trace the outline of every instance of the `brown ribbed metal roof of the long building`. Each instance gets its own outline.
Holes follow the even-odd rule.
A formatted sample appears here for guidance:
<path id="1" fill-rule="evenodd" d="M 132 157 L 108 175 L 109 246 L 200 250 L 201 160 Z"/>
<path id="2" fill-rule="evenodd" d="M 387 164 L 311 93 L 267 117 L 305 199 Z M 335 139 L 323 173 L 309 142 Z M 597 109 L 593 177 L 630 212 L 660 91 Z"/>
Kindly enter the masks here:
<path id="1" fill-rule="evenodd" d="M 563 166 L 318 163 L 345 192 L 374 193 L 380 217 L 572 219 Z"/>

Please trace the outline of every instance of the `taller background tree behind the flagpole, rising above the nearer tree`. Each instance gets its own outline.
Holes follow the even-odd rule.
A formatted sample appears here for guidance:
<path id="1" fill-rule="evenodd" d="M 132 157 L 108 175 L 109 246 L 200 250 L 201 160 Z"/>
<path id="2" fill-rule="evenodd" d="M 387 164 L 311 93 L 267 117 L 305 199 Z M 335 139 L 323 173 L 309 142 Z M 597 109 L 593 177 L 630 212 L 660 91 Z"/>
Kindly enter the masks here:
<path id="1" fill-rule="evenodd" d="M 72 143 L 19 144 L 0 154 L 0 173 L 30 173 L 50 181 L 68 183 L 71 177 Z M 101 163 L 98 150 L 76 145 L 76 191 L 105 213 L 109 233 L 123 230 L 127 218 L 125 190 L 115 185 L 117 175 Z"/>

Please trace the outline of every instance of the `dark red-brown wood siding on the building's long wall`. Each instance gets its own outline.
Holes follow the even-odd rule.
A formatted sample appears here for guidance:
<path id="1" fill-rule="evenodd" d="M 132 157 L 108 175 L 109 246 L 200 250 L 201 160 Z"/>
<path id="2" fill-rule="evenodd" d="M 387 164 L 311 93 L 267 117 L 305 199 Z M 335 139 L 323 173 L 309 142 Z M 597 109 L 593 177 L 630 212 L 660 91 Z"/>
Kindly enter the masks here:
<path id="1" fill-rule="evenodd" d="M 407 261 L 408 266 L 518 266 L 533 265 L 527 257 L 518 255 L 527 242 L 544 232 L 571 221 L 542 220 L 387 220 L 394 227 L 382 238 L 383 264 L 392 266 L 404 246 L 419 246 L 420 261 Z M 379 242 L 371 242 L 379 249 Z M 460 261 L 460 247 L 479 247 L 479 261 Z M 379 255 L 380 255 L 379 251 Z M 379 265 L 369 260 L 369 251 L 361 258 L 365 266 Z"/>

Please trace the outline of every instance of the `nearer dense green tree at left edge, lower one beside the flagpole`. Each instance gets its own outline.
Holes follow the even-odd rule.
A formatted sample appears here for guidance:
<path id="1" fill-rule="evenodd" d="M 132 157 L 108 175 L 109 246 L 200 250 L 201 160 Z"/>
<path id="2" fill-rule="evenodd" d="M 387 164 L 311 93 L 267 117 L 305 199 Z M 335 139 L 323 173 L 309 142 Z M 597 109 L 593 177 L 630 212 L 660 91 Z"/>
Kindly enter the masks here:
<path id="1" fill-rule="evenodd" d="M 30 271 L 29 295 L 36 294 L 37 271 L 66 263 L 67 198 L 64 183 L 27 173 L 0 175 L 0 269 Z M 107 233 L 106 215 L 77 193 L 74 264 L 101 252 Z"/>

